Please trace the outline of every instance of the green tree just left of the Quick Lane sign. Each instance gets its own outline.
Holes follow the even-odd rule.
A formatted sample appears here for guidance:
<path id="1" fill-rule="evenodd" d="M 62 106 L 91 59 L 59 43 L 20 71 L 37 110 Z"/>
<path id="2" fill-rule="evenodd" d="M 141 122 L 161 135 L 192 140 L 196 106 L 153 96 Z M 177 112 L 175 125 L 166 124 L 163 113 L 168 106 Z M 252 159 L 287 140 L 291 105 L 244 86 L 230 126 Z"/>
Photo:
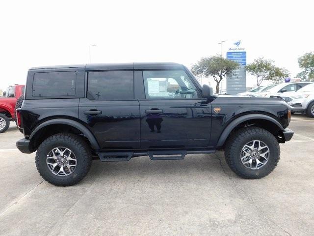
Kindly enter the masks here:
<path id="1" fill-rule="evenodd" d="M 212 56 L 202 58 L 192 65 L 192 72 L 194 75 L 213 77 L 216 82 L 216 93 L 219 93 L 220 82 L 227 74 L 232 74 L 238 67 L 239 64 L 235 61 L 225 59 L 222 56 Z"/>

